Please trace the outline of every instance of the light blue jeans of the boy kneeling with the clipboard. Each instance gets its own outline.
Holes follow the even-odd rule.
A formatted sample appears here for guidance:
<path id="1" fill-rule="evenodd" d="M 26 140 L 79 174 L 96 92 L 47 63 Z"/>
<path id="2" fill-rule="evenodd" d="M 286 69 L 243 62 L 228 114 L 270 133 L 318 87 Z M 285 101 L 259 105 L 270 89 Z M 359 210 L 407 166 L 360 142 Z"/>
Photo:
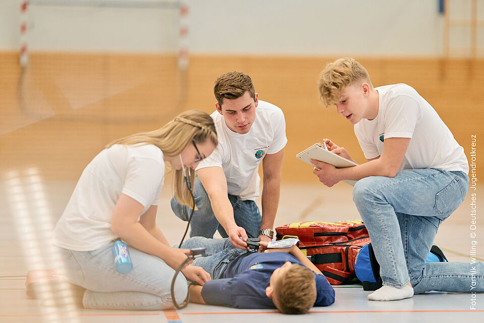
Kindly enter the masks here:
<path id="1" fill-rule="evenodd" d="M 484 291 L 480 261 L 425 262 L 439 225 L 462 203 L 468 187 L 467 174 L 438 169 L 404 170 L 394 178 L 371 176 L 355 184 L 353 201 L 370 233 L 383 285 L 410 282 L 415 294 Z"/>

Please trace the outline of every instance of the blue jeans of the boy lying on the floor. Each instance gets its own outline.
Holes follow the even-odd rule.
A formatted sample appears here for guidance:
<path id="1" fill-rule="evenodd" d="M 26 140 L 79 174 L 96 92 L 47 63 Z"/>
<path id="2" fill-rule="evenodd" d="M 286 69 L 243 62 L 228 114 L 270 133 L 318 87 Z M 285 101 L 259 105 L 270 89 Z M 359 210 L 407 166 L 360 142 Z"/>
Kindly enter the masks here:
<path id="1" fill-rule="evenodd" d="M 212 279 L 219 279 L 230 261 L 240 254 L 247 253 L 247 250 L 232 246 L 228 238 L 193 237 L 181 244 L 181 248 L 184 249 L 200 247 L 206 248 L 205 254 L 203 257 L 195 258 L 193 265 L 202 267 Z"/>

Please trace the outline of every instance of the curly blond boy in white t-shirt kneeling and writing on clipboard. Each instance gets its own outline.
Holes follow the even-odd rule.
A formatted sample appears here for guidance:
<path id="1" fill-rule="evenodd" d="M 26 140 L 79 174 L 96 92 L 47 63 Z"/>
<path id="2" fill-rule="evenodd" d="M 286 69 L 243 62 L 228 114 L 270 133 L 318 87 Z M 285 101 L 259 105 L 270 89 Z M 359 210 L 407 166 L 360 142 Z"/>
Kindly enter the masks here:
<path id="1" fill-rule="evenodd" d="M 484 291 L 482 262 L 426 263 L 439 225 L 469 187 L 464 149 L 433 107 L 406 84 L 374 88 L 366 69 L 350 58 L 328 64 L 318 85 L 323 103 L 336 105 L 354 125 L 367 158 L 365 164 L 344 169 L 312 161 L 319 168 L 313 173 L 328 187 L 358 181 L 353 201 L 370 233 L 383 281 L 368 298 Z M 344 148 L 325 142 L 352 160 Z M 471 281 L 476 282 L 473 290 Z"/>

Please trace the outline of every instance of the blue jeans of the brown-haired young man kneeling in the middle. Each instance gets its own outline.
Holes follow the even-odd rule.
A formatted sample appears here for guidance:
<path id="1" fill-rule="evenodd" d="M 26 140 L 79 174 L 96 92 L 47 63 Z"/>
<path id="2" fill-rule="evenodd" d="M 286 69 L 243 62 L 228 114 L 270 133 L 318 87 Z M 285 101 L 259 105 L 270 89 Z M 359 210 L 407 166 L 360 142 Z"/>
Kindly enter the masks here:
<path id="1" fill-rule="evenodd" d="M 193 212 L 190 237 L 213 238 L 213 234 L 218 229 L 220 235 L 227 238 L 227 233 L 215 218 L 208 194 L 198 176 L 195 177 L 194 196 L 198 210 Z M 257 238 L 262 217 L 256 202 L 241 200 L 240 197 L 231 194 L 228 194 L 228 199 L 232 204 L 233 218 L 237 226 L 244 228 L 249 238 Z M 192 211 L 191 207 L 179 204 L 175 198 L 171 199 L 171 209 L 183 221 L 188 221 Z"/>

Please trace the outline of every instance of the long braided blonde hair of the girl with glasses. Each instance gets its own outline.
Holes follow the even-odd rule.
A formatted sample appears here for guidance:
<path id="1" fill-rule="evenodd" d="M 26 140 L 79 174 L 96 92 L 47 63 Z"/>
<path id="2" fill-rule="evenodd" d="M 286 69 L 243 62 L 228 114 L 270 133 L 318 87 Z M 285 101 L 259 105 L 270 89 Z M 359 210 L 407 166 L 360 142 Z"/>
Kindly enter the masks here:
<path id="1" fill-rule="evenodd" d="M 167 156 L 176 156 L 187 147 L 192 140 L 203 144 L 210 140 L 215 146 L 218 144 L 217 131 L 212 118 L 205 112 L 189 110 L 181 113 L 163 127 L 149 132 L 141 132 L 124 138 L 114 140 L 106 145 L 109 148 L 115 144 L 121 145 L 155 145 Z M 195 180 L 195 172 L 192 172 L 190 181 L 192 187 Z M 183 171 L 176 170 L 173 178 L 173 190 L 176 200 L 180 204 L 193 206 L 188 187 L 184 183 Z"/>

